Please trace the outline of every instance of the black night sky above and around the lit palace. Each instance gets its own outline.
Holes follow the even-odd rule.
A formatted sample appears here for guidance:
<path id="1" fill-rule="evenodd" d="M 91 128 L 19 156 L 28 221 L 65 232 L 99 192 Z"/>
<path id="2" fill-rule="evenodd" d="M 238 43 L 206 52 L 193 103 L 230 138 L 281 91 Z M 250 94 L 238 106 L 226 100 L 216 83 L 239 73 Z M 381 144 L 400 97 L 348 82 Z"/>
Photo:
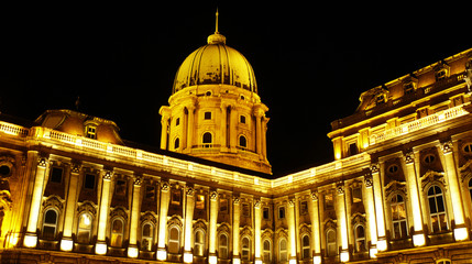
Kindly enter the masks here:
<path id="1" fill-rule="evenodd" d="M 332 161 L 330 122 L 362 91 L 472 46 L 470 7 L 274 2 L 0 7 L 0 111 L 33 120 L 80 96 L 80 111 L 123 139 L 158 145 L 158 109 L 218 6 L 220 33 L 254 68 L 268 160 L 284 174 Z"/>

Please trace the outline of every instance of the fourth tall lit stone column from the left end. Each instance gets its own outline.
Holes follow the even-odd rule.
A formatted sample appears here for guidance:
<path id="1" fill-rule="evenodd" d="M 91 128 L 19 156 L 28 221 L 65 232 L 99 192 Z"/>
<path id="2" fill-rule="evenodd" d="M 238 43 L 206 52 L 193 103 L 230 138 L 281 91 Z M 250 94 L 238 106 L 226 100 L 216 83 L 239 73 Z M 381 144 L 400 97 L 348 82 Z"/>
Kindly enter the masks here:
<path id="1" fill-rule="evenodd" d="M 136 177 L 133 183 L 133 200 L 131 204 L 131 223 L 130 223 L 130 245 L 128 246 L 128 256 L 138 257 L 138 226 L 140 222 L 140 201 L 141 201 L 141 177 Z"/>

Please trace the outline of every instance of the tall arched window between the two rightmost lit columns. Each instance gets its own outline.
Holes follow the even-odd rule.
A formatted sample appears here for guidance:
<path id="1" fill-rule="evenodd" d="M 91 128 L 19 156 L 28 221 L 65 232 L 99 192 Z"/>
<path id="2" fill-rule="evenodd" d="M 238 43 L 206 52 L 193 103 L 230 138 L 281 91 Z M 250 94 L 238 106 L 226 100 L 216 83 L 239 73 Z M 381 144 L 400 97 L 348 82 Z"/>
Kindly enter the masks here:
<path id="1" fill-rule="evenodd" d="M 446 216 L 446 204 L 441 188 L 433 185 L 428 189 L 429 218 L 432 232 L 448 230 L 448 220 Z"/>

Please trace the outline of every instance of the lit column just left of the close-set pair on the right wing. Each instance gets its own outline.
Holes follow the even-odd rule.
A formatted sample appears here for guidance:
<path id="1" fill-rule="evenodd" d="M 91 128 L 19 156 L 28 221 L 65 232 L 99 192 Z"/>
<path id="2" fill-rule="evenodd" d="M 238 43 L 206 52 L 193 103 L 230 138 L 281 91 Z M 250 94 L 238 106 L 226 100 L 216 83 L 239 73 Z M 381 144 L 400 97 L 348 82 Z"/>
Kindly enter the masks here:
<path id="1" fill-rule="evenodd" d="M 341 253 L 340 253 L 340 261 L 341 262 L 349 262 L 349 237 L 348 237 L 348 220 L 345 216 L 345 190 L 344 190 L 344 183 L 338 183 L 337 186 L 337 212 L 339 227 L 341 231 Z"/>

